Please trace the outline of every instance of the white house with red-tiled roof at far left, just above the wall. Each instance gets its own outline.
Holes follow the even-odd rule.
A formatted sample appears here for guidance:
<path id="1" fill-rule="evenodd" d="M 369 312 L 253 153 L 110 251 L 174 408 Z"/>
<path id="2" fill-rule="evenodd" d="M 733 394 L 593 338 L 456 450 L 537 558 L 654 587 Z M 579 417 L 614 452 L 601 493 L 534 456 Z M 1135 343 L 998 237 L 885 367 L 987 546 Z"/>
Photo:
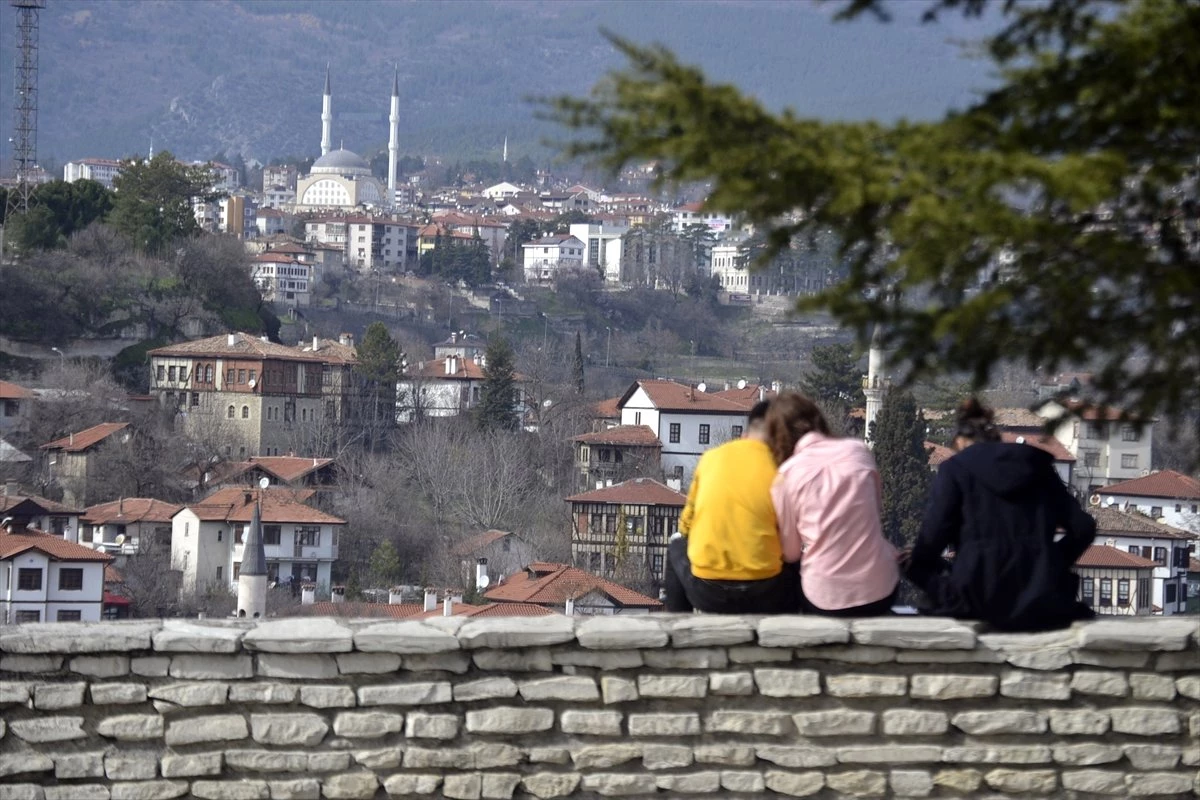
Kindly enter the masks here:
<path id="1" fill-rule="evenodd" d="M 113 557 L 53 534 L 0 530 L 0 622 L 95 622 Z"/>

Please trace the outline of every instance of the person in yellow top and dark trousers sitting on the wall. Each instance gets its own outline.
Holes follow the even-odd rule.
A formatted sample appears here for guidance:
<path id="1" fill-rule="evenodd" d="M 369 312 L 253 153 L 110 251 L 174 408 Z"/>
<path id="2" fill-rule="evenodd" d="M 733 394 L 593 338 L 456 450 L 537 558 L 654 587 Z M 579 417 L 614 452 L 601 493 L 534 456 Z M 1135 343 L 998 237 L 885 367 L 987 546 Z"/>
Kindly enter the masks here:
<path id="1" fill-rule="evenodd" d="M 742 439 L 700 457 L 667 543 L 666 609 L 786 614 L 799 604 L 797 571 L 785 569 L 770 499 L 778 464 L 767 444 L 769 403 L 750 409 Z"/>

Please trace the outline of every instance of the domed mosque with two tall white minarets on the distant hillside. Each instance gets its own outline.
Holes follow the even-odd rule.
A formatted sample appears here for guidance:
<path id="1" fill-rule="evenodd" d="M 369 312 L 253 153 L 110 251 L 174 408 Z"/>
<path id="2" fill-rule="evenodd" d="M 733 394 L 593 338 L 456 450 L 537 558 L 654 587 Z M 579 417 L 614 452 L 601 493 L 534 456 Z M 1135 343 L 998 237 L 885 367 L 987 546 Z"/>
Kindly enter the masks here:
<path id="1" fill-rule="evenodd" d="M 400 157 L 400 74 L 391 82 L 391 113 L 388 116 L 388 186 L 371 174 L 371 164 L 361 156 L 332 149 L 334 96 L 329 67 L 325 67 L 325 97 L 320 112 L 320 158 L 307 175 L 296 181 L 296 210 L 390 209 L 396 197 L 396 162 Z"/>

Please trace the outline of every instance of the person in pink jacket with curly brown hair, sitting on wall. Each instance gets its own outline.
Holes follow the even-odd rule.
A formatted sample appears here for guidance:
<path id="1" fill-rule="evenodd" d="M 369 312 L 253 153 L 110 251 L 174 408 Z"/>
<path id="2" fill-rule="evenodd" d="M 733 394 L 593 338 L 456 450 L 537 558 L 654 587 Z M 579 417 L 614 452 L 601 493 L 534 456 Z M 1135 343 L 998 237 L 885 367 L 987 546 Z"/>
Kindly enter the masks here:
<path id="1" fill-rule="evenodd" d="M 821 409 L 796 392 L 772 402 L 767 437 L 781 462 L 770 494 L 784 561 L 800 565 L 802 609 L 890 613 L 900 569 L 880 523 L 882 488 L 871 451 L 830 435 Z"/>

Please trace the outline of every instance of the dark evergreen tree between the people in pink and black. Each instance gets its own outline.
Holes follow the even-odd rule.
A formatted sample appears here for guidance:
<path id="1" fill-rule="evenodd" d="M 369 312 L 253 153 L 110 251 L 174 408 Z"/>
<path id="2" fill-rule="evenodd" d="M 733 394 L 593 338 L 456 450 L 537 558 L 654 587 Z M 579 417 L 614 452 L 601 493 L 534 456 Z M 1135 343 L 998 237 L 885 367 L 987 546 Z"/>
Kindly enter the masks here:
<path id="1" fill-rule="evenodd" d="M 932 482 L 925 420 L 911 393 L 893 390 L 884 396 L 871 439 L 883 483 L 883 535 L 896 547 L 907 547 L 920 530 Z"/>

